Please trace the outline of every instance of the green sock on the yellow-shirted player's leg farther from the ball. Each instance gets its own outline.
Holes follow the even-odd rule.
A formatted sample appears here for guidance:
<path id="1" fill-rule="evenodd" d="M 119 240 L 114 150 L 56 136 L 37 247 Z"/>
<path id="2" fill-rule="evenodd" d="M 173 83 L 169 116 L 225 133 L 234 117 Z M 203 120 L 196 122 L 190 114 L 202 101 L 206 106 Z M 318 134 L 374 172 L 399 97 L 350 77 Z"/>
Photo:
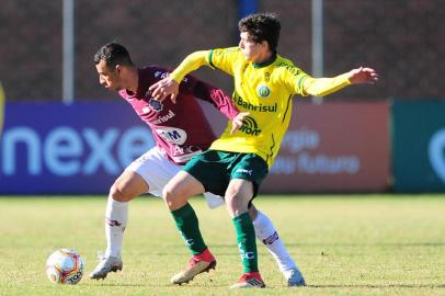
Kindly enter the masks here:
<path id="1" fill-rule="evenodd" d="M 255 230 L 249 213 L 235 217 L 232 221 L 237 230 L 238 249 L 241 253 L 244 272 L 258 272 Z"/>

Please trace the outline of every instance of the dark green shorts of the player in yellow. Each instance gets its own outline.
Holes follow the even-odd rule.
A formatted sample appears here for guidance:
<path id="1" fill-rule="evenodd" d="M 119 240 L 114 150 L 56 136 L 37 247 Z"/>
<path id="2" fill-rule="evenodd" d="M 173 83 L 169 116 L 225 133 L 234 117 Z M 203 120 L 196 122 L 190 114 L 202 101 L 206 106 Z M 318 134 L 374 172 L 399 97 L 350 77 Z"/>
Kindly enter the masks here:
<path id="1" fill-rule="evenodd" d="M 254 153 L 207 150 L 193 157 L 182 169 L 203 185 L 206 192 L 224 196 L 231 179 L 252 182 L 253 197 L 267 175 L 267 163 Z"/>

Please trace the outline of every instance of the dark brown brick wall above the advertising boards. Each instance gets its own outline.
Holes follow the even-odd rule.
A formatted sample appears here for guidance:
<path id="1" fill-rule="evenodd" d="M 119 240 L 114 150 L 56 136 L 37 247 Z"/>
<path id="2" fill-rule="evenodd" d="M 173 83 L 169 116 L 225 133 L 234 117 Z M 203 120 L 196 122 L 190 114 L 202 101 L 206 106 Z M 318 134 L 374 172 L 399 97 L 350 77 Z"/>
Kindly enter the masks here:
<path id="1" fill-rule="evenodd" d="M 2 0 L 0 81 L 10 101 L 60 100 L 62 0 Z M 92 64 L 110 41 L 125 44 L 135 61 L 174 67 L 186 54 L 238 43 L 236 0 L 73 0 L 76 100 L 113 98 L 98 87 Z M 311 0 L 260 0 L 258 10 L 282 20 L 278 52 L 311 71 Z M 333 98 L 385 100 L 444 98 L 445 1 L 324 0 L 324 75 L 369 65 L 381 76 Z M 230 91 L 231 81 L 208 80 Z"/>

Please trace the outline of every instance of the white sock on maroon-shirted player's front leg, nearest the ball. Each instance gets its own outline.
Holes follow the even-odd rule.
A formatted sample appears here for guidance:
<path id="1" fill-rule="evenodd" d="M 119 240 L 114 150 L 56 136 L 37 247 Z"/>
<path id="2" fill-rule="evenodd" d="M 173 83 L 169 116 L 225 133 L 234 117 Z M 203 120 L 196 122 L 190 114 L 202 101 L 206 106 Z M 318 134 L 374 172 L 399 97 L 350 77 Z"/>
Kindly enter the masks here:
<path id="1" fill-rule="evenodd" d="M 109 196 L 105 212 L 106 257 L 121 257 L 127 219 L 128 203 L 121 203 Z"/>

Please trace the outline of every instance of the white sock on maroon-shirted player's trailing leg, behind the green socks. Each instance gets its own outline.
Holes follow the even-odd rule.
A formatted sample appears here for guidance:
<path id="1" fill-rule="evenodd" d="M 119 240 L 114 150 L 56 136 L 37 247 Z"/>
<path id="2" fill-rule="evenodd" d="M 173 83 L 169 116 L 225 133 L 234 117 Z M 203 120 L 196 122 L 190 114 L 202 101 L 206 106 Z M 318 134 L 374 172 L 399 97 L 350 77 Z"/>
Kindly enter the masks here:
<path id="1" fill-rule="evenodd" d="M 294 260 L 279 239 L 278 232 L 276 232 L 274 225 L 266 215 L 259 210 L 256 218 L 253 220 L 253 227 L 255 228 L 256 238 L 267 248 L 282 272 L 296 267 Z"/>

